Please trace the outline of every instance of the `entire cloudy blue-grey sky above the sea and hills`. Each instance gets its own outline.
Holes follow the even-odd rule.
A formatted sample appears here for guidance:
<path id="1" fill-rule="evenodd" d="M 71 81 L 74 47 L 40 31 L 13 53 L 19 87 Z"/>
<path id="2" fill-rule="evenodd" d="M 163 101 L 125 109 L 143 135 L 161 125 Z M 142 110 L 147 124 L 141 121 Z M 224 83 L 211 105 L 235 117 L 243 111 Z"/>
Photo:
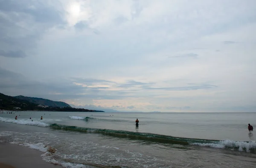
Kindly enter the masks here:
<path id="1" fill-rule="evenodd" d="M 0 92 L 105 111 L 256 112 L 255 0 L 0 0 Z"/>

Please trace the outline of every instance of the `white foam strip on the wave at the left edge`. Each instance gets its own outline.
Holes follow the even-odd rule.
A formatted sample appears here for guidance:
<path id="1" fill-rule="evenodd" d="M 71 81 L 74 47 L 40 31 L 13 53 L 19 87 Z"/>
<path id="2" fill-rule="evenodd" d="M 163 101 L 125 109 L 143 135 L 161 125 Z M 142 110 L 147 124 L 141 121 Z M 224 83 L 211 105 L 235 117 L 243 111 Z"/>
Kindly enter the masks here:
<path id="1" fill-rule="evenodd" d="M 49 124 L 44 123 L 44 122 L 40 122 L 40 121 L 32 121 L 29 119 L 18 119 L 15 120 L 14 118 L 4 118 L 4 117 L 0 117 L 0 121 L 2 122 L 11 122 L 11 123 L 16 123 L 16 124 L 21 124 L 21 125 L 36 125 L 36 126 L 40 126 L 40 127 L 48 127 Z"/>

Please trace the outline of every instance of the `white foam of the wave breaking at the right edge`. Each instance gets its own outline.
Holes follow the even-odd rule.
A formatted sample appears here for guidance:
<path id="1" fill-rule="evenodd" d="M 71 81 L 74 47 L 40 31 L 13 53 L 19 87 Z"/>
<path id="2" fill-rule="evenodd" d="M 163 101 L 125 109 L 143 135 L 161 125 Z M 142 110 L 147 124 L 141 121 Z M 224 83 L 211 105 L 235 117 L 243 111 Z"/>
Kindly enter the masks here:
<path id="1" fill-rule="evenodd" d="M 250 152 L 250 150 L 256 150 L 256 141 L 244 142 L 244 141 L 232 141 L 223 140 L 216 143 L 192 143 L 192 145 L 211 147 L 211 148 L 230 148 L 238 151 Z"/>

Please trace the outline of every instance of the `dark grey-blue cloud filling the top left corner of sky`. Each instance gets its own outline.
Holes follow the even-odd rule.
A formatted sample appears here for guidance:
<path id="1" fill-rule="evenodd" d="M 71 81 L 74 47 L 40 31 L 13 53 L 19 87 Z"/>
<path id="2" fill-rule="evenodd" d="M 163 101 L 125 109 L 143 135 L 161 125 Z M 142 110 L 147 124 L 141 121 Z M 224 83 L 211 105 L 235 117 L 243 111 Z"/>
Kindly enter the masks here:
<path id="1" fill-rule="evenodd" d="M 4 57 L 27 57 L 46 31 L 65 25 L 63 12 L 45 1 L 0 1 L 0 51 Z M 26 53 L 26 54 L 25 54 Z"/>

